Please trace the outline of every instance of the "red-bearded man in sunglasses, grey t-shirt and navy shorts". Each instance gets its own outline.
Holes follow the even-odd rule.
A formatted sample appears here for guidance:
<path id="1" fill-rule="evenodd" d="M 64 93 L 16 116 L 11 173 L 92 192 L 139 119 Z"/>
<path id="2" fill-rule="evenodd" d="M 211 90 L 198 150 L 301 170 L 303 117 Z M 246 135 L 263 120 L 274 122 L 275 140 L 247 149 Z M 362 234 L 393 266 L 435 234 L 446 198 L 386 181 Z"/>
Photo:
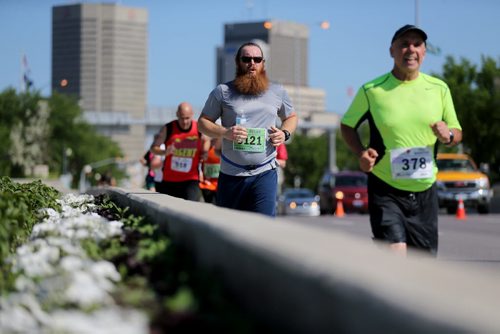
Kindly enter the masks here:
<path id="1" fill-rule="evenodd" d="M 198 120 L 200 132 L 223 138 L 216 203 L 274 216 L 276 147 L 295 131 L 297 117 L 284 88 L 269 82 L 257 44 L 243 44 L 235 61 L 235 80 L 210 93 Z"/>

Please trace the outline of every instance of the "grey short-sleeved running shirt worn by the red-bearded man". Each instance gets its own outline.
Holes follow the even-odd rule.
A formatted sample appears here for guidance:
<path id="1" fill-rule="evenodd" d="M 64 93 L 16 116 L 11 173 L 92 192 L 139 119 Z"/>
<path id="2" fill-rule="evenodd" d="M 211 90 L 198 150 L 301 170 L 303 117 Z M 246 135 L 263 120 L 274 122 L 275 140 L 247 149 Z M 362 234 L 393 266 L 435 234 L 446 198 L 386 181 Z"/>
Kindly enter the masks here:
<path id="1" fill-rule="evenodd" d="M 233 82 L 218 85 L 208 96 L 201 112 L 212 121 L 221 119 L 222 126 L 229 128 L 236 124 L 236 116 L 243 116 L 247 128 L 264 128 L 267 131 L 276 125 L 277 116 L 284 120 L 293 112 L 292 103 L 283 86 L 270 83 L 263 95 L 244 95 L 234 89 Z M 222 141 L 222 154 L 236 165 L 261 165 L 247 170 L 221 159 L 221 172 L 233 176 L 250 176 L 278 167 L 276 149 L 266 135 L 264 152 L 242 152 L 233 149 L 233 142 Z"/>

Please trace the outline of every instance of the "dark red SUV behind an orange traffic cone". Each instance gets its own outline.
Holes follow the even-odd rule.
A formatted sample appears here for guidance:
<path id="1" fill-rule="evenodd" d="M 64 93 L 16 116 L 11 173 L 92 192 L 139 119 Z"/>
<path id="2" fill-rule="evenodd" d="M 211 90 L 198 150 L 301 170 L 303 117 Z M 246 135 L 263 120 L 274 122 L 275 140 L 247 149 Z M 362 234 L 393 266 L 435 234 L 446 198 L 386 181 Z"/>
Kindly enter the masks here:
<path id="1" fill-rule="evenodd" d="M 363 172 L 327 172 L 321 178 L 318 193 L 322 214 L 333 214 L 337 198 L 346 212 L 368 212 L 368 177 Z"/>

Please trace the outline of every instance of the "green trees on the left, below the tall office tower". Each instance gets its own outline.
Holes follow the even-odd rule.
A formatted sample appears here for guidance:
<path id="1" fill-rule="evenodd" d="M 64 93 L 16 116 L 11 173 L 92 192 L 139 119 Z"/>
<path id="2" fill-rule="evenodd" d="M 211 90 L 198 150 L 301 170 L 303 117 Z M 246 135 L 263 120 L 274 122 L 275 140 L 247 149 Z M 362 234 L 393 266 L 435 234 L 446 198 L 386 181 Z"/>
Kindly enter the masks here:
<path id="1" fill-rule="evenodd" d="M 44 99 L 37 91 L 8 88 L 0 93 L 0 119 L 1 175 L 30 176 L 36 164 L 47 164 L 51 174 L 59 175 L 65 163 L 75 185 L 84 165 L 123 156 L 118 144 L 98 134 L 77 101 L 65 95 Z"/>

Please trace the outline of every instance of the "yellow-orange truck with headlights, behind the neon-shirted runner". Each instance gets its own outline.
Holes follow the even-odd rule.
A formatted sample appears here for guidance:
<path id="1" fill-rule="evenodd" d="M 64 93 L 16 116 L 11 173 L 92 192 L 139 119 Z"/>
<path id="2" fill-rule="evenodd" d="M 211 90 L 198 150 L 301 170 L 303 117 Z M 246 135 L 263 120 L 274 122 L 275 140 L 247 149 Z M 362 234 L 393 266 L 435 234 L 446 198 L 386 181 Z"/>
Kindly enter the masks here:
<path id="1" fill-rule="evenodd" d="M 467 154 L 439 153 L 437 155 L 437 187 L 439 207 L 449 214 L 456 212 L 458 200 L 474 207 L 479 213 L 490 212 L 493 190 L 488 176 L 481 172 Z"/>

